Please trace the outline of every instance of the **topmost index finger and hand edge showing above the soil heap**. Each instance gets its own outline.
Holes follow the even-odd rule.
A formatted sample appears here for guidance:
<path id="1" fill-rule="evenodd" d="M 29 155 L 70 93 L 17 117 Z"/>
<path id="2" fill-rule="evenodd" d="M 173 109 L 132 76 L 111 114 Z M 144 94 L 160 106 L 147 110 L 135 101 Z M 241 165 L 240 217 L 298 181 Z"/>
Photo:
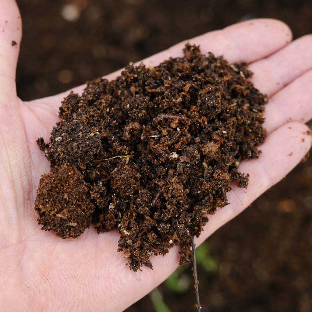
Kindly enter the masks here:
<path id="1" fill-rule="evenodd" d="M 182 50 L 186 42 L 200 45 L 202 53 L 210 51 L 216 56 L 223 55 L 230 63 L 251 62 L 274 53 L 288 44 L 291 38 L 290 28 L 285 23 L 275 19 L 254 19 L 185 40 L 144 59 L 143 62 L 145 65 L 158 65 L 169 57 L 182 56 Z M 120 72 L 121 70 L 115 71 L 105 76 L 105 78 L 108 80 L 115 79 Z M 84 88 L 85 85 L 81 85 L 73 89 L 73 91 L 80 94 Z M 69 91 L 66 91 L 40 101 L 44 101 L 48 105 L 54 105 L 58 109 L 61 100 L 68 93 Z"/>

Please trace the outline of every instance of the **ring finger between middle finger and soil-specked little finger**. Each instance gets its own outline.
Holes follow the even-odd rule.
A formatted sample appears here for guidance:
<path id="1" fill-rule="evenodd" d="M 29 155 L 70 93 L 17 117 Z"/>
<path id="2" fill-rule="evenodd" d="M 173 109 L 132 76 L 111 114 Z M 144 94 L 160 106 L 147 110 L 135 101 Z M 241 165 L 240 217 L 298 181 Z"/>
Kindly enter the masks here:
<path id="1" fill-rule="evenodd" d="M 270 133 L 290 121 L 308 122 L 312 119 L 312 70 L 273 95 L 264 112 L 263 126 Z"/>

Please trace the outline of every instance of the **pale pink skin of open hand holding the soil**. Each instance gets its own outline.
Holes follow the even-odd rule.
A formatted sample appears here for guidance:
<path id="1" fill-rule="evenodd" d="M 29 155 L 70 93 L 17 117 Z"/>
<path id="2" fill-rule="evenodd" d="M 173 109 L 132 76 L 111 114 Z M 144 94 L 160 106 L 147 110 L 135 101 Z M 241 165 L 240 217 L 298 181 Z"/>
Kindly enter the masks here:
<path id="1" fill-rule="evenodd" d="M 5 22 L 7 21 L 7 22 Z M 3 30 L 3 31 L 2 31 Z M 40 230 L 34 213 L 39 179 L 50 170 L 36 144 L 48 142 L 58 107 L 68 93 L 23 102 L 16 95 L 15 71 L 22 37 L 14 0 L 0 10 L 0 307 L 2 311 L 122 311 L 165 280 L 178 266 L 178 247 L 151 258 L 154 270 L 132 272 L 117 253 L 118 232 L 98 235 L 90 227 L 79 238 L 62 240 Z M 12 40 L 18 45 L 12 46 Z M 268 137 L 259 159 L 244 161 L 248 188 L 233 185 L 230 205 L 219 209 L 196 244 L 243 211 L 282 179 L 311 146 L 304 124 L 312 118 L 312 36 L 292 41 L 282 22 L 259 19 L 190 39 L 202 52 L 230 63 L 247 61 L 255 86 L 266 93 Z M 183 43 L 144 63 L 157 65 L 182 54 Z M 24 49 L 27 47 L 24 46 Z M 31 48 L 31 47 L 29 47 Z M 113 79 L 118 72 L 107 76 Z M 83 86 L 74 91 L 81 93 Z M 268 220 L 270 222 L 270 220 Z M 202 294 L 204 296 L 204 293 Z M 190 305 L 191 306 L 191 305 Z"/>

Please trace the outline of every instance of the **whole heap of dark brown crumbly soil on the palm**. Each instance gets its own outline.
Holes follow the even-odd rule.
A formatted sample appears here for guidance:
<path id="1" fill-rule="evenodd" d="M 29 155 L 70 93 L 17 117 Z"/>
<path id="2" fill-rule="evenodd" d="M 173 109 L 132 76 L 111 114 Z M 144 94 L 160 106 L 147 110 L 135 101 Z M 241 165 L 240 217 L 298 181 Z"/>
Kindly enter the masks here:
<path id="1" fill-rule="evenodd" d="M 134 271 L 174 245 L 180 264 L 192 261 L 191 232 L 228 204 L 231 182 L 247 186 L 237 167 L 259 156 L 267 100 L 245 63 L 183 51 L 64 99 L 50 143 L 37 141 L 51 163 L 35 203 L 43 230 L 76 238 L 92 218 L 98 232 L 119 229 L 118 251 Z"/>

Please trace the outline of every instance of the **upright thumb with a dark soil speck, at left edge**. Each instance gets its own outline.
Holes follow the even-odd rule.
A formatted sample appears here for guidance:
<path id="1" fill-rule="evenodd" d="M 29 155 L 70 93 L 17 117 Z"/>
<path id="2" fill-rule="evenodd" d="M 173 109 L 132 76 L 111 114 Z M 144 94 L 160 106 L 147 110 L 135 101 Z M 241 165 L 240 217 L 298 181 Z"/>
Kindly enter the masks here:
<path id="1" fill-rule="evenodd" d="M 1 95 L 15 90 L 15 76 L 22 20 L 15 0 L 2 0 L 0 10 L 0 91 Z"/>

